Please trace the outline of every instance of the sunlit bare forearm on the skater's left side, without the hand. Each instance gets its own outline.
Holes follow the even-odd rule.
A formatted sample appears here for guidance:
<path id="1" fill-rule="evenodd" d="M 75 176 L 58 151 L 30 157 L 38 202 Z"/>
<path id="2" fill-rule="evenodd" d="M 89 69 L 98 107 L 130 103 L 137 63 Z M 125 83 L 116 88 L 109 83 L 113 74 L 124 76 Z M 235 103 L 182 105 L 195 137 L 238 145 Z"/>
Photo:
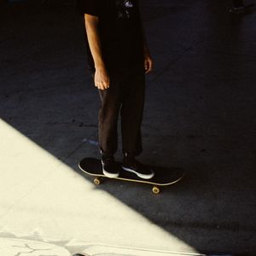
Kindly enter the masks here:
<path id="1" fill-rule="evenodd" d="M 85 28 L 96 69 L 105 68 L 102 57 L 102 45 L 98 30 L 98 18 L 92 15 L 84 15 Z"/>

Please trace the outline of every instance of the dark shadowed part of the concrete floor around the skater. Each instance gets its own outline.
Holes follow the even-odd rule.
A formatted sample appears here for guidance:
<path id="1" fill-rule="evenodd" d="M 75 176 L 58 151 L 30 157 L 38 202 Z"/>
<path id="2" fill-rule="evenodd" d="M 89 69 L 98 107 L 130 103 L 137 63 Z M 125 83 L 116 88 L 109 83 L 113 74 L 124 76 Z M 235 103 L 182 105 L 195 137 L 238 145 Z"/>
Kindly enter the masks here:
<path id="1" fill-rule="evenodd" d="M 155 70 L 140 159 L 186 177 L 158 196 L 118 181 L 99 189 L 202 253 L 254 255 L 256 15 L 230 16 L 230 4 L 142 1 Z M 79 172 L 98 157 L 99 99 L 73 4 L 8 4 L 0 15 L 0 118 Z"/>

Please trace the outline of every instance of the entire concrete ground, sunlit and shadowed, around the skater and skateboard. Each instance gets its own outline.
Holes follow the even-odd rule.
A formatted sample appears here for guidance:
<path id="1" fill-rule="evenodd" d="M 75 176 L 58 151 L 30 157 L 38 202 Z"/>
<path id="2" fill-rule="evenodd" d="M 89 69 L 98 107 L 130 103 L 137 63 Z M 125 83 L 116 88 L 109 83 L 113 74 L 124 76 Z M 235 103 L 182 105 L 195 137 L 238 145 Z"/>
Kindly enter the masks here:
<path id="1" fill-rule="evenodd" d="M 99 102 L 73 4 L 1 6 L 1 256 L 255 255 L 256 16 L 142 2 L 155 69 L 140 160 L 185 179 L 155 196 L 80 173 L 98 156 Z"/>

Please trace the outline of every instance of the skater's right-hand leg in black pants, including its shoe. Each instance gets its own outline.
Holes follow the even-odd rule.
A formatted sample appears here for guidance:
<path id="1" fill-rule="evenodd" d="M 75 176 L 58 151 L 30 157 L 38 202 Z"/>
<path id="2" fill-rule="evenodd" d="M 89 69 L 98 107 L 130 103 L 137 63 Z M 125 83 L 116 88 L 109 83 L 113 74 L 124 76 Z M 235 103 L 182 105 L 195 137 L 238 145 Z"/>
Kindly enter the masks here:
<path id="1" fill-rule="evenodd" d="M 135 159 L 143 151 L 141 136 L 145 97 L 143 70 L 130 69 L 125 75 L 123 86 L 121 125 L 124 160 L 122 168 L 137 174 L 138 177 L 149 179 L 154 176 L 154 172 Z"/>

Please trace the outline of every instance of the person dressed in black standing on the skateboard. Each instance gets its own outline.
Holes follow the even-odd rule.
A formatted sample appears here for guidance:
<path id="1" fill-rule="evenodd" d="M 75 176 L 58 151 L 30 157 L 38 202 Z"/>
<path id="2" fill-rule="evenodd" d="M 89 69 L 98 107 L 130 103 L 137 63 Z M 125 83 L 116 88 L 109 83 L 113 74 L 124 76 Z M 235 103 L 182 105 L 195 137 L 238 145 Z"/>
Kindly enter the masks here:
<path id="1" fill-rule="evenodd" d="M 143 34 L 138 0 L 78 0 L 84 16 L 88 61 L 101 98 L 99 147 L 102 172 L 118 177 L 114 161 L 118 147 L 117 123 L 121 115 L 124 160 L 122 168 L 138 177 L 154 172 L 136 160 L 141 154 L 145 73 L 153 61 Z"/>

